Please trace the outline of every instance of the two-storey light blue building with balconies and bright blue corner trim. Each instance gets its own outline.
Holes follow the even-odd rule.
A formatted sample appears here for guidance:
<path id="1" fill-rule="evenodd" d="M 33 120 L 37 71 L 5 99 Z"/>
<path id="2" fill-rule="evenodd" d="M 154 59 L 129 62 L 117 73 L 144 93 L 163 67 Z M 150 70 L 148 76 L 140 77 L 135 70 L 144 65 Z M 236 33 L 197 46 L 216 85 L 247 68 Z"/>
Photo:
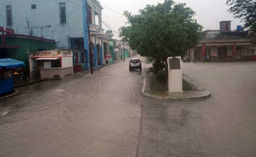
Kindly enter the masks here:
<path id="1" fill-rule="evenodd" d="M 53 39 L 58 49 L 73 49 L 74 71 L 89 69 L 89 45 L 93 66 L 102 65 L 103 8 L 98 0 L 2 0 L 1 4 L 5 19 L 0 18 L 0 26 L 13 28 L 16 34 Z"/>

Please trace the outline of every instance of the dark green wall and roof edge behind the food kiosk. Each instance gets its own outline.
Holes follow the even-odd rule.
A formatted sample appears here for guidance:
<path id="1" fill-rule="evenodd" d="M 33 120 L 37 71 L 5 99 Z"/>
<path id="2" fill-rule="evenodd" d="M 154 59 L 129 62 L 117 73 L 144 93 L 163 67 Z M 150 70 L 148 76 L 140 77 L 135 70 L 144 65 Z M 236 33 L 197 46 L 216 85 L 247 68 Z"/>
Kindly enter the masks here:
<path id="1" fill-rule="evenodd" d="M 21 37 L 6 37 L 5 39 L 7 45 L 20 45 L 21 47 L 15 49 L 0 49 L 0 58 L 11 58 L 23 61 L 26 68 L 29 67 L 29 57 L 27 52 L 42 49 L 56 49 L 56 42 L 47 42 Z M 0 41 L 0 44 L 2 44 L 2 41 Z M 4 53 L 2 51 L 4 51 Z"/>

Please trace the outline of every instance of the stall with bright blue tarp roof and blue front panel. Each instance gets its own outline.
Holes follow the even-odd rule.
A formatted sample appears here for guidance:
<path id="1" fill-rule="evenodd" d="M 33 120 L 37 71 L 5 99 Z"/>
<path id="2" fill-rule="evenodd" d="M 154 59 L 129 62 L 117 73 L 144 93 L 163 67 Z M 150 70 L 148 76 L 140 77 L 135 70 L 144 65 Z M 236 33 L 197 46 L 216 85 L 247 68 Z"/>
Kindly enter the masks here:
<path id="1" fill-rule="evenodd" d="M 22 67 L 25 66 L 24 62 L 15 60 L 15 59 L 9 59 L 4 58 L 0 59 L 0 94 L 4 94 L 7 92 L 10 92 L 14 89 L 13 87 L 13 77 L 11 74 L 11 77 L 6 77 L 6 72 L 11 70 L 12 68 Z M 9 73 L 10 75 L 10 73 Z"/>

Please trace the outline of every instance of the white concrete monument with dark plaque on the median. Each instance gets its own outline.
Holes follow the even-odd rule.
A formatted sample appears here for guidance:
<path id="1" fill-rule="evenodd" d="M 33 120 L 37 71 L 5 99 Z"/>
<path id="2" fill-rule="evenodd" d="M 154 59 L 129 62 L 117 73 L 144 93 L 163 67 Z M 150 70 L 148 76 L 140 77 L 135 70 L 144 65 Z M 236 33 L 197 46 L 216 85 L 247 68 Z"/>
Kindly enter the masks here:
<path id="1" fill-rule="evenodd" d="M 181 57 L 168 57 L 168 90 L 182 92 Z"/>

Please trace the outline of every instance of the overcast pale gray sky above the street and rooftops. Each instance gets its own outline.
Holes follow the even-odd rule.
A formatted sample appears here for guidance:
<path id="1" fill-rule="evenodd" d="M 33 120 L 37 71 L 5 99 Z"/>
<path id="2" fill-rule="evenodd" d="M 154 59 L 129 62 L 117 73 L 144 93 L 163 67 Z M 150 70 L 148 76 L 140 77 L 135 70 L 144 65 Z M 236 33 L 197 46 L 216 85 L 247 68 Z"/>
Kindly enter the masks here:
<path id="1" fill-rule="evenodd" d="M 164 3 L 164 0 L 99 0 L 100 4 L 104 8 L 102 10 L 103 21 L 111 27 L 114 31 L 118 32 L 118 28 L 125 25 L 126 19 L 120 13 L 125 10 L 132 12 L 132 14 L 138 14 L 138 11 L 145 7 L 145 5 L 156 5 L 157 3 Z M 230 14 L 226 0 L 174 0 L 176 3 L 186 3 L 188 7 L 196 11 L 195 19 L 199 24 L 206 29 L 219 29 L 219 22 L 222 20 L 232 20 L 231 30 L 236 29 L 237 25 L 243 25 L 240 19 L 233 18 L 233 14 Z M 116 12 L 108 9 L 113 9 Z M 117 13 L 120 12 L 120 13 Z M 108 23 L 107 23 L 108 22 Z M 103 28 L 108 30 L 104 24 Z M 118 38 L 118 34 L 114 33 L 113 38 Z"/>

